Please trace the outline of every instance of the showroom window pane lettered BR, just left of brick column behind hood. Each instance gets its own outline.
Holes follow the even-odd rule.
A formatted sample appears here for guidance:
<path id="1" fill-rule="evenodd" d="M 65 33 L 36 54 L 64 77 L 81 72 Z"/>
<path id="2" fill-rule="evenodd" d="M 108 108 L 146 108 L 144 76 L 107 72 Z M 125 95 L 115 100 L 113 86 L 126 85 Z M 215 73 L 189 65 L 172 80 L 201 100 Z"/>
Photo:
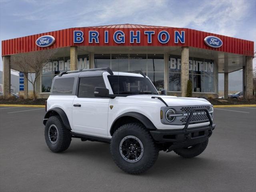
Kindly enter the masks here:
<path id="1" fill-rule="evenodd" d="M 169 55 L 169 91 L 180 91 L 180 56 Z"/>

